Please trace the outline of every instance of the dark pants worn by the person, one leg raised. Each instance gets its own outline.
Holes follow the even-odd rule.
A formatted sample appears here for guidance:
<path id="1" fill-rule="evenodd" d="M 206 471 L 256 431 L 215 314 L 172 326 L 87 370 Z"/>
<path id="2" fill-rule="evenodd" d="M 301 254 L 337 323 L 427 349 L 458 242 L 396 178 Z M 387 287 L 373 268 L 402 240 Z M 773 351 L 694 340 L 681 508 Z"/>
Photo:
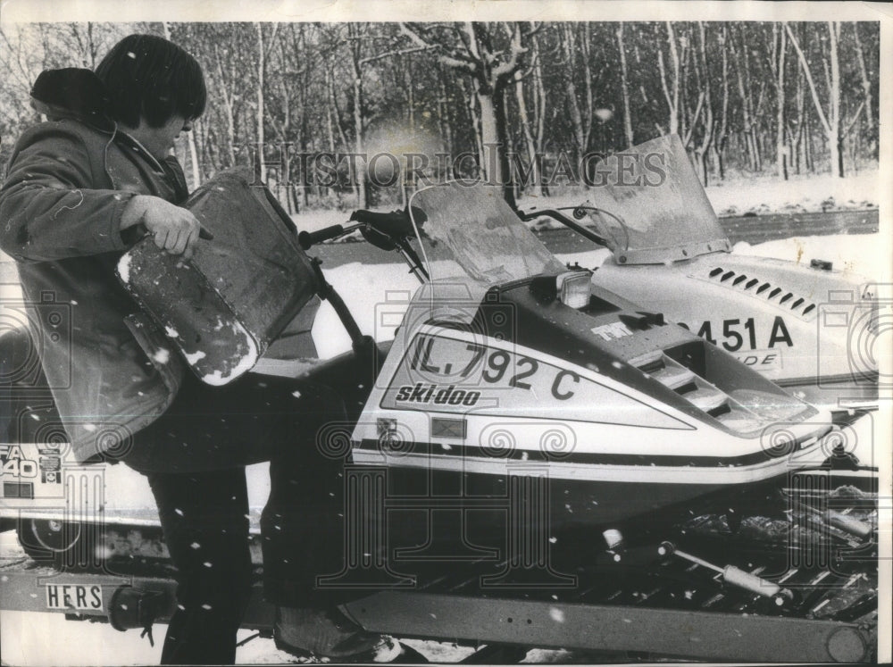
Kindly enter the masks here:
<path id="1" fill-rule="evenodd" d="M 264 557 L 272 541 L 279 579 L 313 580 L 305 566 L 316 563 L 314 546 L 340 537 L 340 528 L 327 525 L 338 513 L 314 510 L 321 497 L 340 496 L 323 480 L 338 483 L 343 458 L 316 446 L 317 431 L 338 419 L 337 396 L 294 380 L 249 375 L 211 388 L 189 378 L 168 411 L 137 433 L 124 460 L 149 480 L 178 571 L 178 606 L 162 663 L 235 660 L 252 583 L 246 464 L 271 460 Z M 296 588 L 306 589 L 303 583 Z"/>

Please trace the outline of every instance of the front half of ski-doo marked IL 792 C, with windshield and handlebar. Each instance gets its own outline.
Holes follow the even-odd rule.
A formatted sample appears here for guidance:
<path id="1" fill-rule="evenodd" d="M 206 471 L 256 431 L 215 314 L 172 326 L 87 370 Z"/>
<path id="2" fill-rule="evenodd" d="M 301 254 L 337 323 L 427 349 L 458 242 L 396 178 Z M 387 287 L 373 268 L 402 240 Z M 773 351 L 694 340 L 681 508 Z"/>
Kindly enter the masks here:
<path id="1" fill-rule="evenodd" d="M 409 210 L 414 233 L 385 235 L 425 282 L 354 401 L 355 464 L 403 488 L 460 475 L 472 496 L 504 496 L 513 467 L 539 468 L 560 528 L 611 527 L 824 460 L 827 412 L 569 270 L 496 192 L 429 188 Z M 315 372 L 338 387 L 357 377 L 346 363 Z"/>

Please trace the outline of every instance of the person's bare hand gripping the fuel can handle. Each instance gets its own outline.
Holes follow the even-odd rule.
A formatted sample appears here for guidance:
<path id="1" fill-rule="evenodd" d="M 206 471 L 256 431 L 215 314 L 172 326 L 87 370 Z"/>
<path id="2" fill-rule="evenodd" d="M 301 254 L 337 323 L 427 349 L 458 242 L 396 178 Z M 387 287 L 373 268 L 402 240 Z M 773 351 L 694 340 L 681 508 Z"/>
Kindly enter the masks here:
<path id="1" fill-rule="evenodd" d="M 184 259 L 192 257 L 202 231 L 191 211 L 150 195 L 133 197 L 121 216 L 121 229 L 139 223 L 154 237 L 155 246 L 170 254 L 182 254 Z"/>

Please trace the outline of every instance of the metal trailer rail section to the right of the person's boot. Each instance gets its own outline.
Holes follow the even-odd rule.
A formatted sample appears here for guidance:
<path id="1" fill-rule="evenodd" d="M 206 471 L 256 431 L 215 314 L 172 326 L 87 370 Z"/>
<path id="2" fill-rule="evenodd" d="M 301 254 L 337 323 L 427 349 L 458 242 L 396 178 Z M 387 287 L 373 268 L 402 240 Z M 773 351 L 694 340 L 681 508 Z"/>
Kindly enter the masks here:
<path id="1" fill-rule="evenodd" d="M 484 644 L 629 651 L 697 660 L 859 663 L 875 638 L 853 623 L 608 604 L 382 592 L 346 604 L 365 629 Z M 399 629 L 397 632 L 396 629 Z"/>

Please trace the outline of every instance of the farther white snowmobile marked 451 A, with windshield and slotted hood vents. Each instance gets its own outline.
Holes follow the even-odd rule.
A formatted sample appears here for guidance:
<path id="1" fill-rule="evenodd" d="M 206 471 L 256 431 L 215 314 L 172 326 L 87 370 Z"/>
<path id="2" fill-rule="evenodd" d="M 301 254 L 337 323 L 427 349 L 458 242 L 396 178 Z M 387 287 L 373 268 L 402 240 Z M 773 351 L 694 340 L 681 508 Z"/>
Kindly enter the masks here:
<path id="1" fill-rule="evenodd" d="M 876 408 L 889 294 L 849 268 L 733 252 L 676 135 L 594 166 L 587 202 L 521 213 L 609 251 L 597 285 L 664 313 L 812 404 Z"/>

